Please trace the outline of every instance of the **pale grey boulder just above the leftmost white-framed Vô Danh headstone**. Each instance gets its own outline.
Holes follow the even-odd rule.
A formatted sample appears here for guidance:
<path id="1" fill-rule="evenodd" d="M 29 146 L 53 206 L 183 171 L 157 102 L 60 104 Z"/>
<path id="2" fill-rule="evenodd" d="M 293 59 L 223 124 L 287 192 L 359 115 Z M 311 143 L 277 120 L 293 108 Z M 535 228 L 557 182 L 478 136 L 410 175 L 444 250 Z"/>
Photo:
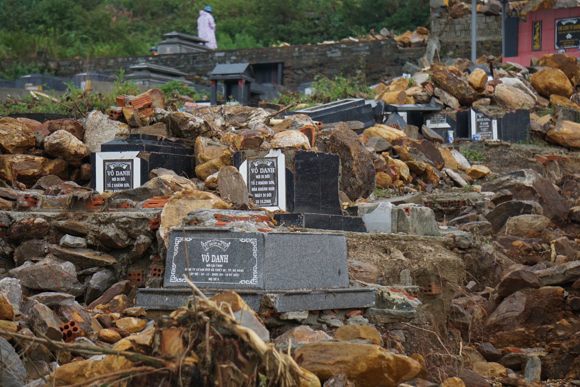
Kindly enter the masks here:
<path id="1" fill-rule="evenodd" d="M 101 145 L 115 138 L 128 138 L 130 128 L 125 123 L 108 118 L 100 111 L 93 110 L 86 116 L 84 142 L 91 152 L 100 152 Z"/>

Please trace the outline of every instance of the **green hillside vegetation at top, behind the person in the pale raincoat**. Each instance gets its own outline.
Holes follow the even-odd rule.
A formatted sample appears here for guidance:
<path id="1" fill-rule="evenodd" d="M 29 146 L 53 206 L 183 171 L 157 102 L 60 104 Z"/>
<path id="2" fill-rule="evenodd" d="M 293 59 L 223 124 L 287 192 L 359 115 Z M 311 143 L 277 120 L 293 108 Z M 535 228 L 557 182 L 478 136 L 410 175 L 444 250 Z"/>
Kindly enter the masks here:
<path id="1" fill-rule="evenodd" d="M 0 0 L 0 59 L 147 55 L 165 32 L 197 35 L 208 4 L 220 49 L 404 32 L 427 26 L 430 13 L 427 0 Z"/>

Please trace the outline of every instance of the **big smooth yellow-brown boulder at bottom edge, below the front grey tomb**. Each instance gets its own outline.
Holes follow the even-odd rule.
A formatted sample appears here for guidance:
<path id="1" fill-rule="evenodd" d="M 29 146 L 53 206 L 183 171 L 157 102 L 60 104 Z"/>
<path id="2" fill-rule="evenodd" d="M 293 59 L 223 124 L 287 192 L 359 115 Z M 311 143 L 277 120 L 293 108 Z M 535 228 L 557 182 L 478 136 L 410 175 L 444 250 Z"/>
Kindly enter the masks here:
<path id="1" fill-rule="evenodd" d="M 395 387 L 414 378 L 421 368 L 410 357 L 373 344 L 311 342 L 294 354 L 299 366 L 316 375 L 320 382 L 345 374 L 356 387 Z"/>

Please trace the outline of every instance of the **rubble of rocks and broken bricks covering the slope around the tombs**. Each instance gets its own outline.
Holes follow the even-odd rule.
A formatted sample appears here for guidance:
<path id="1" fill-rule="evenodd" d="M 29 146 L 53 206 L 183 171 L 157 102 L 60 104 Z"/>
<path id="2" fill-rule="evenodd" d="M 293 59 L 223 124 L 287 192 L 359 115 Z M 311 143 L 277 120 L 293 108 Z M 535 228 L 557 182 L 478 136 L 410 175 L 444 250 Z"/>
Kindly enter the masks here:
<path id="1" fill-rule="evenodd" d="M 564 119 L 580 115 L 575 57 L 544 56 L 532 70 L 478 62 L 431 64 L 381 83 L 376 100 L 439 103 L 450 116 L 520 109 L 535 138 L 580 148 L 580 124 Z M 485 138 L 449 144 L 395 114 L 365 128 L 280 110 L 177 111 L 151 89 L 83 122 L 0 118 L 0 386 L 580 385 L 574 153 Z M 97 191 L 95 154 L 133 146 L 136 135 L 164 149 L 169 141 L 193 165 L 166 153 L 138 186 Z M 179 227 L 304 231 L 275 220 L 286 211 L 256 205 L 234 166 L 238 151 L 289 152 L 287 169 L 304 166 L 299 152 L 339 156 L 329 200 L 342 215 L 327 220 L 366 222 L 369 233 L 346 233 L 346 248 L 350 282 L 375 289 L 374 306 L 277 312 L 252 310 L 242 292 L 195 293 L 154 319 L 135 305 L 139 289 L 161 287 Z M 160 153 L 135 152 L 143 164 Z M 186 167 L 191 176 L 173 170 Z M 316 176 L 331 167 L 319 162 Z M 311 202 L 324 191 L 299 188 Z"/>

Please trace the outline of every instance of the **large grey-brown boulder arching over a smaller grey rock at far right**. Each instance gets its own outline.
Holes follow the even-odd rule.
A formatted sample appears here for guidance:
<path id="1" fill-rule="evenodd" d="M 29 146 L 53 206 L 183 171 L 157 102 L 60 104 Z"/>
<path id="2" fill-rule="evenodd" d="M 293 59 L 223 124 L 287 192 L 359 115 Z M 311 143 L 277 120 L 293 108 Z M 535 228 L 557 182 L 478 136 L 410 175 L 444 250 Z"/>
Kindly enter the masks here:
<path id="1" fill-rule="evenodd" d="M 498 192 L 507 189 L 518 200 L 532 200 L 540 203 L 543 216 L 550 220 L 567 220 L 570 208 L 552 182 L 539 176 L 531 169 L 523 169 L 514 173 L 505 174 L 484 185 L 485 191 Z M 511 216 L 515 216 L 513 214 Z M 517 214 L 517 215 L 521 215 Z"/>

